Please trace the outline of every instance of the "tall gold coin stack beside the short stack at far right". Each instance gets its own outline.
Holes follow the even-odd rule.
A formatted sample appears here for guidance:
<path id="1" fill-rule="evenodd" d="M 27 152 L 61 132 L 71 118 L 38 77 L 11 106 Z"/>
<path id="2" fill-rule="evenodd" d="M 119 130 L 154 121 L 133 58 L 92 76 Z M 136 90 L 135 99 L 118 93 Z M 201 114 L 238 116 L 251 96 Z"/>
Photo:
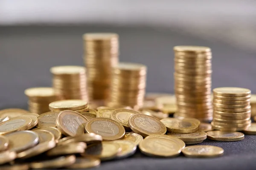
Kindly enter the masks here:
<path id="1" fill-rule="evenodd" d="M 212 120 L 212 52 L 202 46 L 175 46 L 176 117 Z"/>

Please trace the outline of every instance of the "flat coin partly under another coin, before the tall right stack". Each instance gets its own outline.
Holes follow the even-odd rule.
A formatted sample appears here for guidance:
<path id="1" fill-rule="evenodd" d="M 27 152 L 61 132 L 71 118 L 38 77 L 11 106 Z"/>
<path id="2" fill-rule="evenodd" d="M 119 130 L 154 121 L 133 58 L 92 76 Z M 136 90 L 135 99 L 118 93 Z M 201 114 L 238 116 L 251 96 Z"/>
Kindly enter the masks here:
<path id="1" fill-rule="evenodd" d="M 192 132 L 192 133 L 168 132 L 167 135 L 181 139 L 184 142 L 202 141 L 207 138 L 207 134 L 203 131 L 196 131 L 196 132 Z"/>

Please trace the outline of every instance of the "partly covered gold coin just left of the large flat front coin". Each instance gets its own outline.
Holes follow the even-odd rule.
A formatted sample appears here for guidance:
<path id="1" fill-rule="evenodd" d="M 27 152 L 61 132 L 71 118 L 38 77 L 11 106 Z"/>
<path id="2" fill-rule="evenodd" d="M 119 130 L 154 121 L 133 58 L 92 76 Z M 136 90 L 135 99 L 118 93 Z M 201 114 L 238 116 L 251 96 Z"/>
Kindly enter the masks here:
<path id="1" fill-rule="evenodd" d="M 136 152 L 137 145 L 134 142 L 125 140 L 115 140 L 113 142 L 119 144 L 122 148 L 121 152 L 117 155 L 119 159 L 132 156 Z"/>

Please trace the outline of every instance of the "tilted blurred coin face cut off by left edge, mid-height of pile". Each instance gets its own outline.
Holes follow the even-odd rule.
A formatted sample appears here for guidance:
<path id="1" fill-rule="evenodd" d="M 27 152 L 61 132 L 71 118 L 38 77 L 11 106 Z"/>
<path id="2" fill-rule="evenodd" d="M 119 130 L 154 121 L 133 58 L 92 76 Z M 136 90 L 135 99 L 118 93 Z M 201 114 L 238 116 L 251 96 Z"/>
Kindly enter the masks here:
<path id="1" fill-rule="evenodd" d="M 14 117 L 0 124 L 0 134 L 15 132 L 17 130 L 28 130 L 32 123 L 29 117 Z"/>

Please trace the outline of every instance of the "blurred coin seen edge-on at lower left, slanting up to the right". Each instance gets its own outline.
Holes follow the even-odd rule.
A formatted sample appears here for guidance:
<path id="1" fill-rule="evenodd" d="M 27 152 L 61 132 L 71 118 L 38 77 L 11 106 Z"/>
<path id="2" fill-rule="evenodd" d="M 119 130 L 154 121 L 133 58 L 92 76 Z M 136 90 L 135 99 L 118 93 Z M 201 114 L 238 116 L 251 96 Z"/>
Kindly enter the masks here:
<path id="1" fill-rule="evenodd" d="M 35 147 L 31 147 L 27 150 L 24 150 L 23 152 L 20 152 L 17 154 L 17 158 L 19 159 L 28 159 L 33 156 L 40 155 L 41 153 L 46 152 L 47 150 L 52 149 L 55 147 L 56 143 L 55 141 L 46 141 L 43 143 L 37 144 Z"/>

